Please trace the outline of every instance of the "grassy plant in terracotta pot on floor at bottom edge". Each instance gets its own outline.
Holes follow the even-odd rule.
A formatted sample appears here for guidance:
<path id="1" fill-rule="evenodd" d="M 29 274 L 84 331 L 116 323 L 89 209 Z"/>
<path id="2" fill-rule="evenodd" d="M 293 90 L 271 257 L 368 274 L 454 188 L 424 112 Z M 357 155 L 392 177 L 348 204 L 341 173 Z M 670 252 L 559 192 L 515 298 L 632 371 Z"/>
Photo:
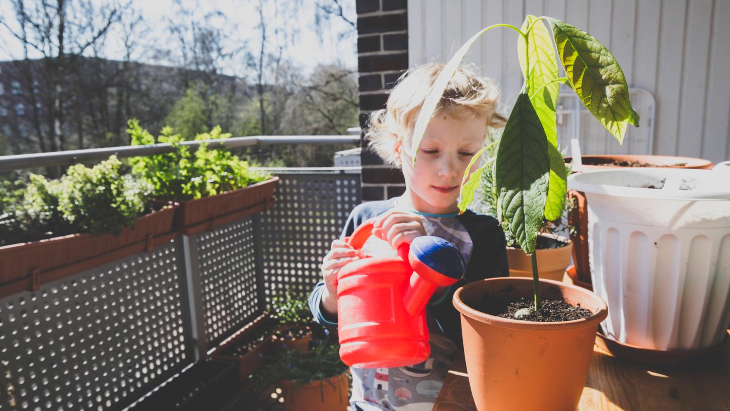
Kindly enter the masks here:
<path id="1" fill-rule="evenodd" d="M 315 341 L 309 352 L 284 350 L 251 375 L 245 390 L 285 411 L 339 411 L 347 408 L 349 369 L 339 345 Z"/>

